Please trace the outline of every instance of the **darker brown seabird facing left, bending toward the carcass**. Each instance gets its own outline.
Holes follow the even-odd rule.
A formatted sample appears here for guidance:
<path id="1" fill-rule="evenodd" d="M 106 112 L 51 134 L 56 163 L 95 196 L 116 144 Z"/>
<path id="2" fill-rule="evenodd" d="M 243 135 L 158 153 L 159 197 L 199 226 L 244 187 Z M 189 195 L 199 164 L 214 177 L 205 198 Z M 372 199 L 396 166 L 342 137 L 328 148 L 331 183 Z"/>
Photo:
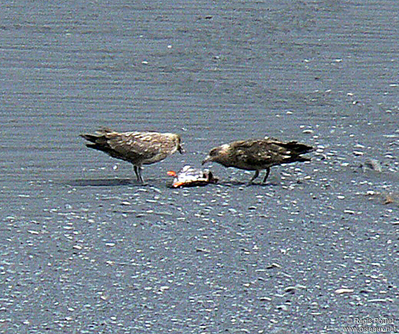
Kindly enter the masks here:
<path id="1" fill-rule="evenodd" d="M 224 144 L 210 150 L 202 165 L 213 161 L 224 167 L 255 170 L 249 184 L 258 177 L 259 171 L 266 169 L 263 182 L 270 173 L 270 167 L 281 164 L 310 161 L 301 157 L 313 151 L 313 147 L 297 142 L 283 143 L 273 138 L 249 139 Z"/>

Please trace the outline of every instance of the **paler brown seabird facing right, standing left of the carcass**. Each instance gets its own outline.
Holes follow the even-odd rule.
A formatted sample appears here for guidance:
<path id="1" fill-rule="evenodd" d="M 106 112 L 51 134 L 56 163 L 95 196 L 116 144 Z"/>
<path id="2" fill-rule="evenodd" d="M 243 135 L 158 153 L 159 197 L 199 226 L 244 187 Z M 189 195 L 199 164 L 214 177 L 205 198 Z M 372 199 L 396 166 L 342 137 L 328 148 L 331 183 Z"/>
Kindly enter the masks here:
<path id="1" fill-rule="evenodd" d="M 176 151 L 184 153 L 180 136 L 158 132 L 124 132 L 109 129 L 96 131 L 94 135 L 81 134 L 90 149 L 103 151 L 113 158 L 125 160 L 134 167 L 137 180 L 144 182 L 141 175 L 142 165 L 150 165 L 164 160 Z"/>

